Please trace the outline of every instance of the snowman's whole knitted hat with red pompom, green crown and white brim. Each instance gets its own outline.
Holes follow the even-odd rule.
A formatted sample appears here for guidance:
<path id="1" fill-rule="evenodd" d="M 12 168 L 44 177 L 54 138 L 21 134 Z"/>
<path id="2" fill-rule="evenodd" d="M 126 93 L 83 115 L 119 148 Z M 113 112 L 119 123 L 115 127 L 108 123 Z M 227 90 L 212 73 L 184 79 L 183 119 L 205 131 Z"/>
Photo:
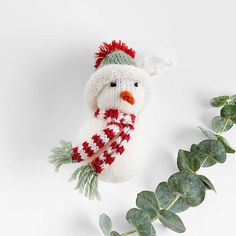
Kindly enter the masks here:
<path id="1" fill-rule="evenodd" d="M 135 51 L 121 41 L 113 40 L 110 44 L 103 43 L 95 53 L 95 72 L 89 78 L 84 95 L 92 111 L 97 109 L 96 98 L 107 84 L 116 80 L 133 80 L 144 87 L 149 93 L 150 75 L 137 67 L 134 57 Z"/>

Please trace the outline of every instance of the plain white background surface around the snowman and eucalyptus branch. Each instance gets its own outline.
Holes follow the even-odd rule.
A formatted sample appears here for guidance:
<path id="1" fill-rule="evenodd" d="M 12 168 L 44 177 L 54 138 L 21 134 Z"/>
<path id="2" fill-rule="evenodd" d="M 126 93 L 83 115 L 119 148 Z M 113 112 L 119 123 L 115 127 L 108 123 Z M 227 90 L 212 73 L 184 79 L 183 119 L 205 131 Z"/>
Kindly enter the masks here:
<path id="1" fill-rule="evenodd" d="M 236 93 L 234 0 L 1 0 L 0 235 L 101 235 L 109 214 L 119 232 L 136 194 L 154 190 L 177 171 L 179 148 L 204 137 L 218 109 L 209 99 Z M 88 109 L 84 85 L 94 52 L 121 39 L 137 57 L 157 55 L 175 65 L 154 83 L 143 119 L 150 140 L 143 172 L 124 184 L 100 184 L 102 201 L 88 201 L 68 184 L 73 166 L 54 173 L 49 150 L 74 140 Z M 226 134 L 236 146 L 236 129 Z M 215 183 L 205 202 L 181 214 L 184 235 L 234 235 L 236 155 L 203 170 Z M 158 223 L 157 235 L 175 233 Z"/>

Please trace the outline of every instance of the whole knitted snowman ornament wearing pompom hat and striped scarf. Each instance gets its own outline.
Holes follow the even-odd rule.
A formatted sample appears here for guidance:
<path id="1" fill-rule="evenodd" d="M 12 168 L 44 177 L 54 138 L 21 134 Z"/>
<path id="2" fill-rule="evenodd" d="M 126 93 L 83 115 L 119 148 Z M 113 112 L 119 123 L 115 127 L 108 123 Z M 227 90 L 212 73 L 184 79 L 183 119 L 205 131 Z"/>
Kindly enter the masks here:
<path id="1" fill-rule="evenodd" d="M 61 142 L 52 150 L 56 169 L 74 163 L 71 176 L 90 199 L 99 198 L 98 180 L 123 182 L 143 166 L 146 155 L 139 115 L 146 106 L 151 76 L 134 61 L 135 51 L 121 41 L 103 43 L 95 72 L 85 87 L 93 117 L 82 127 L 77 146 Z"/>

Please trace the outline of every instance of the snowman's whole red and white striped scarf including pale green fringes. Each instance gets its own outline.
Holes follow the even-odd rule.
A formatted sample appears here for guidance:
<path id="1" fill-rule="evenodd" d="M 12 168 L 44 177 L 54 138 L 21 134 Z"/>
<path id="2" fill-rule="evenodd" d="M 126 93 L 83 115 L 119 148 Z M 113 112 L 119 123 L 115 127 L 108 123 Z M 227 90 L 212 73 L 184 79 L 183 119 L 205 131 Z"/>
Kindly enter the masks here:
<path id="1" fill-rule="evenodd" d="M 98 192 L 98 175 L 111 165 L 116 158 L 122 155 L 134 130 L 135 115 L 128 115 L 117 109 L 100 110 L 95 112 L 95 117 L 104 119 L 107 126 L 104 130 L 92 136 L 80 147 L 72 147 L 71 142 L 61 141 L 59 147 L 51 150 L 49 162 L 55 166 L 57 172 L 62 165 L 79 163 L 96 154 L 98 150 L 108 145 L 95 159 L 77 168 L 72 174 L 70 181 L 77 181 L 75 189 L 79 190 L 89 199 L 100 200 Z M 113 138 L 115 138 L 113 140 Z"/>

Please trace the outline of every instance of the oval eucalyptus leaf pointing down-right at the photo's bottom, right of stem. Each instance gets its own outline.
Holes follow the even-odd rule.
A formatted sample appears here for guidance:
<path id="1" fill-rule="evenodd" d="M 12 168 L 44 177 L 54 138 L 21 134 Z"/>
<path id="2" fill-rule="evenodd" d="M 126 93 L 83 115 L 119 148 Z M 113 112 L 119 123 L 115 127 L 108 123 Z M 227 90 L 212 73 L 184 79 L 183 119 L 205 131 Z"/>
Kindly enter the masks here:
<path id="1" fill-rule="evenodd" d="M 159 220 L 164 226 L 177 233 L 184 233 L 186 230 L 180 217 L 170 211 L 167 210 L 160 211 Z"/>

